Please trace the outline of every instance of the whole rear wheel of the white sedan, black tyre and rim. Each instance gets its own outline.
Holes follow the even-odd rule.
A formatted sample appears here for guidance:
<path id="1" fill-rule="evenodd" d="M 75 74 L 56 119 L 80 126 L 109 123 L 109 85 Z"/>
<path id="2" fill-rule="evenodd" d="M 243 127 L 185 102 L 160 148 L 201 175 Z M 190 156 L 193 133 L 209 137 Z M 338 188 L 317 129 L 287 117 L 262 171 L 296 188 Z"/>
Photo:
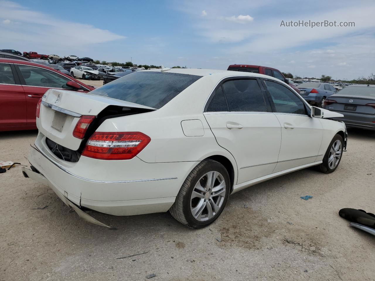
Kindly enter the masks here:
<path id="1" fill-rule="evenodd" d="M 185 179 L 169 212 L 188 227 L 208 226 L 225 208 L 230 188 L 225 167 L 211 159 L 203 160 Z"/>

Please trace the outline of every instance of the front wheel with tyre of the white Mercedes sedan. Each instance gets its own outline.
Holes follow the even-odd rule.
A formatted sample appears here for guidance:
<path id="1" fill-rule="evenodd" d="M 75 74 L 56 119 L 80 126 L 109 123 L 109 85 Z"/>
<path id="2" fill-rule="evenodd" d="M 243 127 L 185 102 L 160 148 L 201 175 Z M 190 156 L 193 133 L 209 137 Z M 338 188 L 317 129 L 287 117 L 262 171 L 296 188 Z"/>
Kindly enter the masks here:
<path id="1" fill-rule="evenodd" d="M 320 171 L 327 174 L 334 172 L 341 161 L 343 149 L 344 141 L 342 136 L 337 134 L 333 137 L 326 154 L 324 154 L 323 163 L 318 166 Z"/>

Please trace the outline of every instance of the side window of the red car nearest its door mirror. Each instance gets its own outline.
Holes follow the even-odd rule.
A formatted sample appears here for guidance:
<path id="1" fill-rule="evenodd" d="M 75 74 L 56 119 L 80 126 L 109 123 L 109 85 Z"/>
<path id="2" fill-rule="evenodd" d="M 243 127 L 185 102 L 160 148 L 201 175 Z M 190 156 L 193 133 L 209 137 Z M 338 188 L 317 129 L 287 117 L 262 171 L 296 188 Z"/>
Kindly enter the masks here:
<path id="1" fill-rule="evenodd" d="M 63 88 L 70 81 L 53 71 L 26 65 L 18 65 L 27 86 Z"/>

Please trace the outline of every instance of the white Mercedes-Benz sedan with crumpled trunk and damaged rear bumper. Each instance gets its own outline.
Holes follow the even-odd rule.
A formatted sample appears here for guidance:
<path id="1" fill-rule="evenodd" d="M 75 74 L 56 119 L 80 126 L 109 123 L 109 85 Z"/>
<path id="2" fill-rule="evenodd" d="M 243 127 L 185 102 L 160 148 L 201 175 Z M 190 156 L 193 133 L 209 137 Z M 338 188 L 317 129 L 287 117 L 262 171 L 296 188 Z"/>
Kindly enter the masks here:
<path id="1" fill-rule="evenodd" d="M 48 90 L 23 175 L 80 217 L 169 211 L 193 228 L 216 220 L 229 194 L 286 173 L 338 167 L 342 114 L 310 106 L 266 75 L 138 71 L 89 93 Z"/>

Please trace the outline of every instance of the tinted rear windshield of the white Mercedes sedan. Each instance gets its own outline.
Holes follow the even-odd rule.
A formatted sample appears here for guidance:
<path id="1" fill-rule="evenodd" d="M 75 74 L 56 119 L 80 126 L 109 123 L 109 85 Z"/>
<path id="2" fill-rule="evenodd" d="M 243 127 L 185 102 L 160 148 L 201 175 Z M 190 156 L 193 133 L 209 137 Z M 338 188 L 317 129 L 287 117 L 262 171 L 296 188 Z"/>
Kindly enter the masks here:
<path id="1" fill-rule="evenodd" d="M 202 76 L 139 71 L 90 92 L 159 109 Z"/>

